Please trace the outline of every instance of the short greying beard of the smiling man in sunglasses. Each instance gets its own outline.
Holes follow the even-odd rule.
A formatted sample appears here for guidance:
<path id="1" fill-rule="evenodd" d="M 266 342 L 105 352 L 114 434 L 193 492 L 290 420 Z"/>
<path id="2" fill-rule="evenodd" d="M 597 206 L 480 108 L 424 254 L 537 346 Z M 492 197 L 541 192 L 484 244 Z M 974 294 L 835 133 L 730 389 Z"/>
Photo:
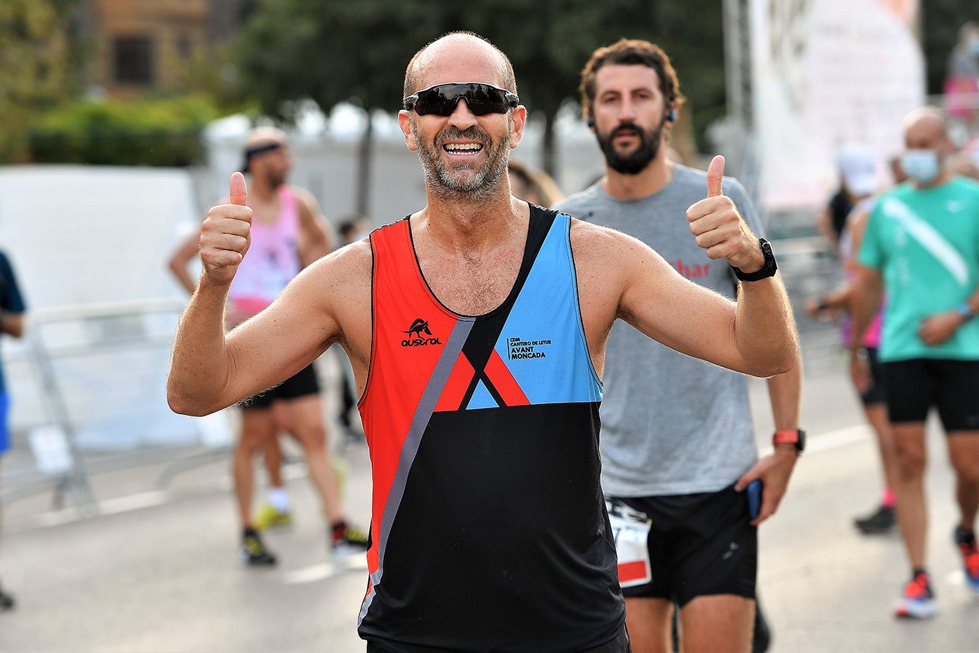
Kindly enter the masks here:
<path id="1" fill-rule="evenodd" d="M 418 127 L 414 125 L 412 138 L 418 148 L 418 159 L 425 169 L 425 180 L 428 187 L 436 195 L 446 200 L 485 200 L 499 188 L 500 178 L 506 173 L 507 152 L 503 142 L 494 142 L 489 134 L 477 126 L 465 131 L 458 127 L 448 127 L 435 138 L 434 147 L 428 147 L 418 138 Z M 479 170 L 473 170 L 472 176 L 465 174 L 470 170 L 465 163 L 446 167 L 439 152 L 443 144 L 453 139 L 472 138 L 484 143 L 487 158 Z"/>

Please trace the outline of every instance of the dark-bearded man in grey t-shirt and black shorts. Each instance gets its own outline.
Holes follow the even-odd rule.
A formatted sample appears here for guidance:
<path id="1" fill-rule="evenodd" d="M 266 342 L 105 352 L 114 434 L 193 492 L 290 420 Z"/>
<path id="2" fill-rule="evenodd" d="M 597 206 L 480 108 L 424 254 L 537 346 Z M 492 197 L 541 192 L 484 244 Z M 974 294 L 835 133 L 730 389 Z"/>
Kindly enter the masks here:
<path id="1" fill-rule="evenodd" d="M 754 275 L 715 260 L 690 238 L 684 212 L 704 196 L 707 175 L 667 156 L 682 102 L 667 55 L 639 40 L 600 48 L 583 70 L 581 92 L 606 175 L 555 208 L 639 238 L 683 276 L 733 298 L 739 279 L 751 283 Z M 741 185 L 725 178 L 723 191 L 743 230 L 764 236 Z M 686 650 L 747 651 L 757 526 L 777 508 L 804 444 L 801 366 L 769 379 L 776 443 L 759 459 L 746 377 L 628 325 L 613 328 L 605 360 L 602 489 L 615 521 L 632 645 L 664 645 L 676 604 Z M 744 490 L 756 479 L 764 490 L 752 517 Z"/>

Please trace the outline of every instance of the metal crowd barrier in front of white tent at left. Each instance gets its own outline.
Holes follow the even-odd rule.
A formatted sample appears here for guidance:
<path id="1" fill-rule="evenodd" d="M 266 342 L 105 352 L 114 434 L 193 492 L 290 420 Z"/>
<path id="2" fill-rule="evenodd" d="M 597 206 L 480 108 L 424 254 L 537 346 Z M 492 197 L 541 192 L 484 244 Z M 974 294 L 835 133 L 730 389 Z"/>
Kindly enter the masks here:
<path id="1" fill-rule="evenodd" d="M 173 413 L 165 380 L 184 303 L 155 300 L 37 311 L 26 343 L 8 348 L 14 450 L 0 473 L 4 501 L 39 490 L 68 495 L 83 515 L 98 510 L 93 474 L 164 463 L 173 474 L 226 455 L 228 415 Z"/>

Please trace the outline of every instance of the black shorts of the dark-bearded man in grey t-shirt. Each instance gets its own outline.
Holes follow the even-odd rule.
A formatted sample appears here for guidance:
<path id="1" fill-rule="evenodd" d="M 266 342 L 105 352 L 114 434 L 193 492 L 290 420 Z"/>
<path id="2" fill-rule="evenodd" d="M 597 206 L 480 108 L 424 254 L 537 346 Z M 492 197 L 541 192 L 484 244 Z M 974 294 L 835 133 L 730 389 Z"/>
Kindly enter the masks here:
<path id="1" fill-rule="evenodd" d="M 748 496 L 733 487 L 675 496 L 616 497 L 643 512 L 649 530 L 649 583 L 623 595 L 664 598 L 682 608 L 697 596 L 755 598 L 758 528 L 749 523 Z"/>

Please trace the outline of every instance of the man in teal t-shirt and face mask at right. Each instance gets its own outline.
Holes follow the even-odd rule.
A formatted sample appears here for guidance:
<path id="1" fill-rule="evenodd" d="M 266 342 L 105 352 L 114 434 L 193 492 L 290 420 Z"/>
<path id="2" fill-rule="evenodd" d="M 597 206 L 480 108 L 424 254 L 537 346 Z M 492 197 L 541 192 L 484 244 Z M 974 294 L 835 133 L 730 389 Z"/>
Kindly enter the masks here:
<path id="1" fill-rule="evenodd" d="M 966 582 L 979 592 L 979 184 L 943 168 L 954 148 L 945 117 L 922 107 L 905 120 L 909 181 L 883 194 L 870 213 L 853 298 L 851 373 L 868 383 L 862 337 L 887 293 L 879 350 L 888 420 L 897 448 L 898 525 L 911 580 L 898 617 L 925 618 L 938 604 L 925 567 L 925 419 L 935 407 L 956 471 L 954 534 Z"/>

